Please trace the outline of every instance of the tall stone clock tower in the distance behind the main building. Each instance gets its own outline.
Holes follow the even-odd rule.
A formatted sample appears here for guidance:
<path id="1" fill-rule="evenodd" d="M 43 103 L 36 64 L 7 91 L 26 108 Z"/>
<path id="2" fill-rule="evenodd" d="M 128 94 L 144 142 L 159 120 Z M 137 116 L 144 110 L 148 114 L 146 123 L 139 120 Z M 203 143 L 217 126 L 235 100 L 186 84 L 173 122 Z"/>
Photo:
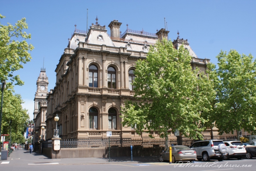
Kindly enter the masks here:
<path id="1" fill-rule="evenodd" d="M 44 134 L 46 130 L 41 128 L 44 126 L 46 128 L 46 112 L 47 112 L 47 100 L 48 95 L 48 77 L 46 76 L 45 68 L 41 68 L 39 77 L 36 81 L 36 94 L 35 94 L 35 106 L 34 106 L 34 142 L 44 139 Z M 41 136 L 41 137 L 40 137 Z"/>

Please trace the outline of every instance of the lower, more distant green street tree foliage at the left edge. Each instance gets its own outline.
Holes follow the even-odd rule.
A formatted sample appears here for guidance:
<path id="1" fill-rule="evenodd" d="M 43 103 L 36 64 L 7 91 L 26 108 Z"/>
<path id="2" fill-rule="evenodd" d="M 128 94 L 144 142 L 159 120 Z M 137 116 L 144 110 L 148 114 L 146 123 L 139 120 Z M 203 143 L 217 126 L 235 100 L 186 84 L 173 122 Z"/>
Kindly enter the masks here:
<path id="1" fill-rule="evenodd" d="M 10 134 L 10 120 L 12 120 L 12 142 L 22 142 L 29 115 L 27 110 L 22 108 L 21 96 L 13 93 L 13 86 L 10 83 L 7 84 L 4 90 L 2 134 Z"/>

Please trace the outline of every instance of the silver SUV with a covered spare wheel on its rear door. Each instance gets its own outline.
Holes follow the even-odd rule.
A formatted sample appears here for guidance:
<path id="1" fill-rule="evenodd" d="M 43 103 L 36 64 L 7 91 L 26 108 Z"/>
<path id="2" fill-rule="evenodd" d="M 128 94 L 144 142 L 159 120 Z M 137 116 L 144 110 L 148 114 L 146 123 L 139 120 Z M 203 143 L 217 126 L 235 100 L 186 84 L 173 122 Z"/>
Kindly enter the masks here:
<path id="1" fill-rule="evenodd" d="M 190 145 L 191 149 L 196 150 L 196 158 L 198 160 L 209 161 L 210 159 L 223 160 L 223 156 L 227 155 L 227 147 L 222 140 L 209 139 L 197 141 Z"/>

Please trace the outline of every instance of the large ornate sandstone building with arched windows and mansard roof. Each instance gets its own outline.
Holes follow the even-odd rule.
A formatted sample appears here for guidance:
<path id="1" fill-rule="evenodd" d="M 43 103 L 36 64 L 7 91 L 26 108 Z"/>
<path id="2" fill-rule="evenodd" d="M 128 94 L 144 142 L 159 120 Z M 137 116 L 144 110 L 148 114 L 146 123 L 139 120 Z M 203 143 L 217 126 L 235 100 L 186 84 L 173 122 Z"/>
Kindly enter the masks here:
<path id="1" fill-rule="evenodd" d="M 110 22 L 110 35 L 98 22 L 90 26 L 88 34 L 75 29 L 56 67 L 56 86 L 47 96 L 46 139 L 54 136 L 56 114 L 62 139 L 105 138 L 107 131 L 117 138 L 139 137 L 134 129 L 121 125 L 120 110 L 124 101 L 133 99 L 135 62 L 145 59 L 157 40 L 168 39 L 169 31 L 152 34 L 126 25 L 121 34 L 121 24 Z M 205 72 L 209 59 L 198 58 L 188 41 L 179 36 L 173 44 L 175 48 L 184 44 L 192 56 L 192 68 Z M 153 135 L 159 137 L 157 132 Z M 146 133 L 143 136 L 148 137 Z"/>

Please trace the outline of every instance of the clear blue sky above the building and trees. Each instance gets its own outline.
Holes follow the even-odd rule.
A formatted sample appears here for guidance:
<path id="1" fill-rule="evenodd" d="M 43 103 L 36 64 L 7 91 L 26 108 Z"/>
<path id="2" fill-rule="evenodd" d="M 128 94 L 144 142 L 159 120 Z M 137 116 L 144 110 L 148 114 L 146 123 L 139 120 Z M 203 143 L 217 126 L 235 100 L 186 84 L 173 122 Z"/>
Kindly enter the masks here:
<path id="1" fill-rule="evenodd" d="M 256 1 L 255 0 L 1 0 L 0 14 L 6 16 L 1 24 L 15 24 L 26 18 L 31 43 L 35 49 L 32 60 L 15 74 L 25 82 L 16 86 L 15 93 L 22 95 L 33 119 L 36 80 L 40 69 L 46 68 L 49 87 L 56 81 L 54 70 L 68 45 L 68 38 L 74 32 L 74 25 L 86 30 L 95 23 L 106 25 L 112 20 L 122 22 L 120 30 L 125 32 L 126 24 L 132 30 L 156 33 L 164 28 L 164 18 L 170 31 L 169 39 L 188 39 L 198 58 L 208 58 L 217 64 L 220 50 L 237 50 L 240 54 L 256 56 Z M 109 28 L 108 33 L 109 33 Z"/>

